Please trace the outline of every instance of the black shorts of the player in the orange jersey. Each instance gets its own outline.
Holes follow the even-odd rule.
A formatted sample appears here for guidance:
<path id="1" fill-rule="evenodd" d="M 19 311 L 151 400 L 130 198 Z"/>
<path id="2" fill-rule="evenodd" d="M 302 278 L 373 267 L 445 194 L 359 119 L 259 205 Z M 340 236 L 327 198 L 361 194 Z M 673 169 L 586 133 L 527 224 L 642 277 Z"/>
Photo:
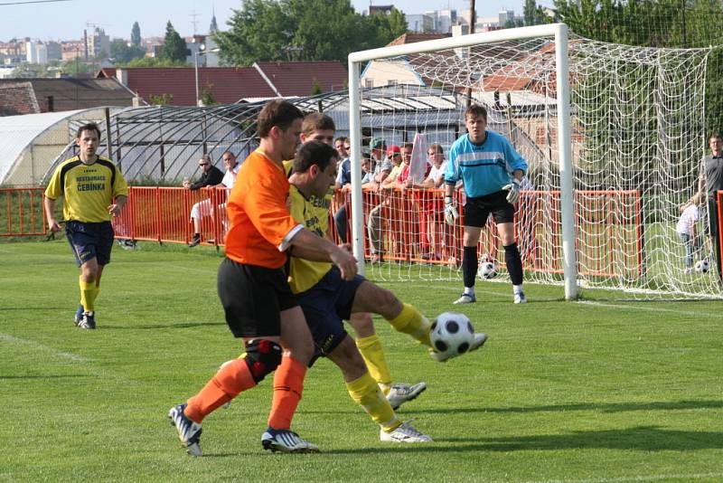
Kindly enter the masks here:
<path id="1" fill-rule="evenodd" d="M 235 337 L 280 336 L 280 313 L 298 305 L 283 269 L 225 258 L 217 287 L 226 323 Z"/>

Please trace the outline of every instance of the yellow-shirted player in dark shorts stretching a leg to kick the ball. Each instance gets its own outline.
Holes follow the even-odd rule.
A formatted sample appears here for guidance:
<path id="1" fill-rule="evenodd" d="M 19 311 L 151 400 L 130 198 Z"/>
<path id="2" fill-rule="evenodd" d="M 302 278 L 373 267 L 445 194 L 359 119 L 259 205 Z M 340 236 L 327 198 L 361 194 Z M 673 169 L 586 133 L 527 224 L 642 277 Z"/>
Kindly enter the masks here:
<path id="1" fill-rule="evenodd" d="M 337 156 L 333 147 L 321 141 L 308 141 L 296 154 L 294 172 L 289 178 L 292 216 L 320 237 L 326 235 L 329 212 L 328 207 L 326 211 L 320 210 L 318 201 L 324 200 L 329 186 L 336 179 Z M 342 319 L 349 319 L 354 309 L 357 312 L 371 310 L 373 298 L 375 312 L 387 317 L 398 330 L 415 336 L 421 342 L 426 341 L 428 345 L 427 319 L 418 312 L 405 313 L 404 308 L 407 308 L 406 312 L 413 311 L 409 306 L 399 310 L 397 306 L 401 304 L 391 292 L 380 289 L 359 275 L 352 280 L 343 280 L 339 270 L 330 263 L 300 259 L 296 254 L 292 254 L 289 262 L 289 285 L 297 294 L 296 299 L 314 337 L 315 356 L 309 365 L 324 355 L 339 366 L 349 395 L 380 425 L 380 440 L 431 441 L 426 434 L 399 420 L 342 324 Z M 409 328 L 412 330 L 406 330 Z"/>

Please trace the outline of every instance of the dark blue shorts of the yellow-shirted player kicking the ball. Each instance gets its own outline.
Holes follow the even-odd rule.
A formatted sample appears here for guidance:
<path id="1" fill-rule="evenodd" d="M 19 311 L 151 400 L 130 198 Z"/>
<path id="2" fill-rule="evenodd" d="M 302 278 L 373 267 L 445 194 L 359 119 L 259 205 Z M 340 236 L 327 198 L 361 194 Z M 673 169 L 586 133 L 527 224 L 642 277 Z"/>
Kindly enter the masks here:
<path id="1" fill-rule="evenodd" d="M 351 317 L 356 290 L 364 280 L 361 275 L 357 275 L 351 281 L 346 281 L 334 266 L 314 287 L 296 295 L 296 300 L 304 310 L 306 325 L 314 337 L 315 351 L 309 367 L 343 341 L 346 330 L 342 320 Z"/>

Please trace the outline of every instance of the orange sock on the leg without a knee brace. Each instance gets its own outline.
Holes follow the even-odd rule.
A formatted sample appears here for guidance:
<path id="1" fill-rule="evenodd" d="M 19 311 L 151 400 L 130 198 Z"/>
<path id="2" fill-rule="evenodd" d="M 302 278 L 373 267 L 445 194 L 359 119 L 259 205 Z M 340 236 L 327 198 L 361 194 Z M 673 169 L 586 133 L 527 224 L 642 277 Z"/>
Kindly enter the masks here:
<path id="1" fill-rule="evenodd" d="M 306 366 L 287 355 L 274 374 L 274 399 L 268 414 L 268 426 L 275 430 L 288 430 L 304 390 Z"/>

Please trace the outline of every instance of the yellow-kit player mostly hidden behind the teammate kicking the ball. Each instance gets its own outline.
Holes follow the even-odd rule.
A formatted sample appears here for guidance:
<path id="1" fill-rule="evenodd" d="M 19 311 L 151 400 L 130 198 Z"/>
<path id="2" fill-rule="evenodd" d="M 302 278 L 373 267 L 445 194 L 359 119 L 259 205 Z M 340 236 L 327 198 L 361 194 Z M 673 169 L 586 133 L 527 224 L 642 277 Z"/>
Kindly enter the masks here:
<path id="1" fill-rule="evenodd" d="M 333 119 L 321 112 L 312 112 L 307 114 L 301 126 L 301 142 L 321 141 L 324 144 L 333 146 L 334 132 L 336 127 Z M 285 162 L 286 172 L 291 173 L 293 160 Z M 329 206 L 333 199 L 333 186 L 329 188 L 323 200 L 313 198 L 313 204 L 318 210 L 318 218 L 322 223 L 322 233 L 320 236 L 328 235 L 328 218 Z M 313 284 L 312 284 L 313 285 Z M 362 353 L 362 357 L 366 362 L 371 376 L 380 385 L 381 391 L 387 397 L 391 407 L 398 409 L 402 403 L 406 403 L 427 389 L 427 384 L 420 382 L 417 384 L 404 384 L 391 382 L 390 367 L 387 364 L 387 358 L 384 356 L 384 350 L 381 346 L 379 336 L 374 329 L 374 322 L 369 313 L 352 314 L 349 324 L 354 327 L 356 333 L 356 345 Z"/>

